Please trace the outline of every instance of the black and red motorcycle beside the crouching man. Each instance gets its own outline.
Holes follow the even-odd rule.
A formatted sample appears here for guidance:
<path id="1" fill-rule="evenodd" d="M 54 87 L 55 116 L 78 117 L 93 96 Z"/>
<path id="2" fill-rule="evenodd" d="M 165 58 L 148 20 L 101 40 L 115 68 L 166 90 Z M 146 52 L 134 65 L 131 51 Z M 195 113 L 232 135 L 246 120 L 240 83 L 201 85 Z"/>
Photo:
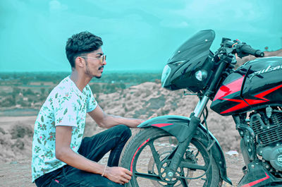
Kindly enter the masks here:
<path id="1" fill-rule="evenodd" d="M 158 116 L 141 123 L 121 166 L 133 172 L 127 186 L 222 186 L 230 183 L 218 140 L 207 126 L 207 103 L 233 116 L 245 162 L 238 186 L 282 186 L 282 57 L 222 38 L 213 53 L 213 30 L 190 37 L 168 59 L 161 85 L 199 97 L 190 117 Z M 235 69 L 236 56 L 264 57 Z M 187 92 L 186 92 L 187 93 Z M 187 95 L 187 94 L 186 94 Z"/>

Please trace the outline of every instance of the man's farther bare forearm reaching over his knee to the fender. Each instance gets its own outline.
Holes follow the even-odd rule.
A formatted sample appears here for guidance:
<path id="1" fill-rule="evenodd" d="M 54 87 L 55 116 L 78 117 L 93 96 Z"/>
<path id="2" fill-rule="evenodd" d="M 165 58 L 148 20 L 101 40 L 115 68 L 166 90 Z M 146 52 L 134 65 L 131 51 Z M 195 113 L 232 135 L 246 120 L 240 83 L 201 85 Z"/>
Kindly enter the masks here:
<path id="1" fill-rule="evenodd" d="M 90 114 L 92 119 L 96 121 L 98 126 L 103 128 L 111 128 L 113 126 L 120 124 L 135 128 L 140 123 L 144 122 L 144 120 L 142 119 L 130 119 L 130 118 L 123 118 L 121 116 L 106 114 L 99 105 L 96 107 L 96 109 L 88 112 L 88 114 Z"/>

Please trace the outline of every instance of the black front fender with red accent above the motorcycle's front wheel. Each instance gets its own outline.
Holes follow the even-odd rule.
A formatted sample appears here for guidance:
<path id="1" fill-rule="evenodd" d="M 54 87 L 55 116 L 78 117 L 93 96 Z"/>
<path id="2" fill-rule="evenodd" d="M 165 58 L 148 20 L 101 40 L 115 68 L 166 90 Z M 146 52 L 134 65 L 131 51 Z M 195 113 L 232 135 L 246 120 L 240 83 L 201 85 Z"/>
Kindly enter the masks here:
<path id="1" fill-rule="evenodd" d="M 156 127 L 161 128 L 162 130 L 170 133 L 171 135 L 175 136 L 179 142 L 183 142 L 185 140 L 185 133 L 189 129 L 189 122 L 190 118 L 184 117 L 184 116 L 158 116 L 152 119 L 149 119 L 143 123 L 141 123 L 138 127 L 139 128 L 146 128 L 146 127 Z M 221 179 L 224 181 L 230 183 L 232 185 L 232 182 L 230 179 L 228 179 L 228 176 L 226 174 L 226 161 L 225 157 L 223 155 L 222 149 L 219 145 L 218 140 L 212 135 L 211 132 L 209 132 L 209 137 L 211 138 L 212 143 L 212 155 L 215 159 L 216 164 L 219 166 L 219 171 L 221 174 Z M 197 132 L 195 133 L 195 138 L 198 138 L 201 140 L 204 145 L 207 145 L 207 129 L 200 123 Z"/>

